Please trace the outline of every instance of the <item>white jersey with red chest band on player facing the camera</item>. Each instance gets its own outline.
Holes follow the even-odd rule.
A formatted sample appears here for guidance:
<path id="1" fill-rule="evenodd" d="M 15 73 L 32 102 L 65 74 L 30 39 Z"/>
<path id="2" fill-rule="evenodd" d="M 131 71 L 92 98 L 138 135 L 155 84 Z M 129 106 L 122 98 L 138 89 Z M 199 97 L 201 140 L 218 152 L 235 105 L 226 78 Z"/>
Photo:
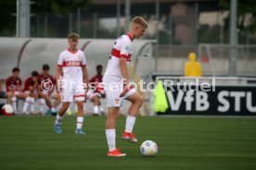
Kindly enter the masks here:
<path id="1" fill-rule="evenodd" d="M 62 67 L 62 79 L 83 83 L 82 67 L 86 66 L 85 55 L 81 50 L 72 53 L 69 49 L 60 53 L 58 67 Z"/>

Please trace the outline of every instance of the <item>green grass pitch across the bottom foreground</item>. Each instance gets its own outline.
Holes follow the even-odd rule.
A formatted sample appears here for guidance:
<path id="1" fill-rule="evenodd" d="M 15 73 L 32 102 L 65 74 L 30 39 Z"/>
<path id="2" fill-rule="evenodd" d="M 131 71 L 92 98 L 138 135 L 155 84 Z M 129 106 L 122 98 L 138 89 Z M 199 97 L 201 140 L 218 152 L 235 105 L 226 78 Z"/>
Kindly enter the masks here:
<path id="1" fill-rule="evenodd" d="M 53 116 L 0 116 L 0 169 L 86 170 L 253 170 L 256 169 L 256 118 L 138 117 L 136 144 L 122 140 L 125 117 L 117 125 L 117 147 L 123 158 L 107 156 L 106 117 L 86 116 L 86 135 L 76 135 L 74 116 L 53 130 Z M 155 157 L 139 146 L 154 140 Z"/>

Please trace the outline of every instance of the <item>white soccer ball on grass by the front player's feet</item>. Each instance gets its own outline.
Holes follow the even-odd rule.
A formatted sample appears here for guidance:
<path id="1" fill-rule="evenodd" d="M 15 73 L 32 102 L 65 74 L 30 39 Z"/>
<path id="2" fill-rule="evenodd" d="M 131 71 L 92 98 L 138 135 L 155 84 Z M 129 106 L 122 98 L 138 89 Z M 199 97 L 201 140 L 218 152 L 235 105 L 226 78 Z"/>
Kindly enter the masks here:
<path id="1" fill-rule="evenodd" d="M 140 145 L 140 152 L 144 156 L 154 156 L 158 152 L 158 145 L 152 140 L 143 141 Z"/>

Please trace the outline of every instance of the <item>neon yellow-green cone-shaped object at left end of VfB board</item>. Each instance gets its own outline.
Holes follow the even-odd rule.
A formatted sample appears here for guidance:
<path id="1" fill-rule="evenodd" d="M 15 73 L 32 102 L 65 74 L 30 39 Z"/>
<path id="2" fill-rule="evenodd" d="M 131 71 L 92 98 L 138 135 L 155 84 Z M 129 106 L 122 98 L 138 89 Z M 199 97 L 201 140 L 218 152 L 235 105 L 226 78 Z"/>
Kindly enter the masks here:
<path id="1" fill-rule="evenodd" d="M 162 87 L 162 83 L 159 80 L 157 87 L 155 89 L 155 103 L 154 103 L 154 111 L 157 112 L 165 112 L 168 109 L 168 103 L 165 95 L 165 91 Z"/>

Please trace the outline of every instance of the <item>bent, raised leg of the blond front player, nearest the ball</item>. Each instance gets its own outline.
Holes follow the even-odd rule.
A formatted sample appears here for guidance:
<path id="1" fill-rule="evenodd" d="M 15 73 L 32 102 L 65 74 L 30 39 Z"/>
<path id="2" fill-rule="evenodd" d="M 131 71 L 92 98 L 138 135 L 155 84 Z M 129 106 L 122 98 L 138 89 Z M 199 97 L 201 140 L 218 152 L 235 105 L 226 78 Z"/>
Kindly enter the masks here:
<path id="1" fill-rule="evenodd" d="M 134 91 L 131 95 L 126 97 L 126 100 L 130 101 L 132 104 L 128 110 L 128 114 L 126 117 L 125 130 L 122 133 L 122 139 L 131 141 L 131 142 L 137 142 L 138 140 L 135 139 L 134 137 L 133 129 L 134 129 L 134 124 L 136 120 L 136 115 L 143 103 L 143 98 L 137 91 Z"/>

